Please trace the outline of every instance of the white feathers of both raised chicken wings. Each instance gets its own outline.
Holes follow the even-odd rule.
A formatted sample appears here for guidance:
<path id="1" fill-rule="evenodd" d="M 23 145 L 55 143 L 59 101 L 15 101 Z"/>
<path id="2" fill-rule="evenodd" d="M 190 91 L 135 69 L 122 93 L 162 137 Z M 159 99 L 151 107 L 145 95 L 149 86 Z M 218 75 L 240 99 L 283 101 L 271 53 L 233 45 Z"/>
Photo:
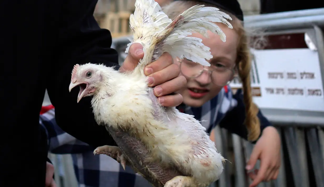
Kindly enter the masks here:
<path id="1" fill-rule="evenodd" d="M 222 41 L 226 41 L 224 32 L 214 22 L 220 22 L 233 28 L 226 20 L 232 18 L 219 11 L 215 7 L 205 7 L 196 5 L 180 14 L 183 18 L 177 22 L 170 35 L 165 38 L 155 49 L 154 58 L 158 58 L 162 53 L 168 52 L 173 58 L 187 58 L 193 62 L 210 66 L 206 61 L 213 58 L 210 48 L 206 47 L 202 40 L 195 37 L 188 37 L 192 32 L 200 33 L 208 38 L 207 30 L 220 36 Z M 162 11 L 161 7 L 154 0 L 136 0 L 134 14 L 130 17 L 130 27 L 133 31 L 133 40 L 127 45 L 125 53 L 128 53 L 132 43 L 138 42 L 143 46 L 149 45 L 154 34 L 169 26 L 172 20 Z"/>

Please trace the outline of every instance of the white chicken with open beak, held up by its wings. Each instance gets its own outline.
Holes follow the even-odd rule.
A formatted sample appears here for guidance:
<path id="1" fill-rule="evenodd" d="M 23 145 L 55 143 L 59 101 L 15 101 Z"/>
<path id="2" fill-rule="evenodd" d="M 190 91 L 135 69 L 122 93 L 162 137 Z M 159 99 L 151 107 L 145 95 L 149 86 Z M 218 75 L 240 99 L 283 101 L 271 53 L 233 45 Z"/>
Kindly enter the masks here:
<path id="1" fill-rule="evenodd" d="M 226 40 L 215 24 L 229 15 L 214 7 L 193 6 L 175 20 L 168 18 L 153 0 L 137 0 L 130 17 L 132 43 L 143 45 L 144 57 L 134 71 L 120 73 L 101 64 L 74 66 L 70 91 L 80 87 L 77 102 L 93 96 L 91 104 L 98 124 L 123 130 L 136 137 L 149 150 L 152 162 L 174 166 L 186 176 L 177 176 L 165 187 L 205 187 L 219 179 L 225 159 L 217 152 L 205 128 L 193 116 L 179 112 L 175 107 L 159 105 L 153 89 L 147 86 L 144 67 L 168 52 L 173 57 L 185 57 L 206 66 L 212 58 L 210 49 L 202 40 L 188 37 L 191 32 L 208 37 L 207 30 Z M 118 158 L 123 167 L 125 156 L 118 147 L 101 146 L 94 153 Z"/>

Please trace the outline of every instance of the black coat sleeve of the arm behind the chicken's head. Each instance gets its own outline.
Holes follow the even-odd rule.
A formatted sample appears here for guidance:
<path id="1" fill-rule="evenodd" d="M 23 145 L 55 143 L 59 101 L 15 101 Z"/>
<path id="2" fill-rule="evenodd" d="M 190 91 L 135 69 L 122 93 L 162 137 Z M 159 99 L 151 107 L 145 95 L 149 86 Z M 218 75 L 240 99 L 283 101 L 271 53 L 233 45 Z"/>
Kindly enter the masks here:
<path id="1" fill-rule="evenodd" d="M 77 103 L 79 90 L 69 92 L 75 64 L 102 63 L 118 66 L 118 54 L 111 49 L 111 34 L 100 29 L 93 17 L 97 1 L 64 1 L 61 5 L 57 41 L 53 50 L 51 75 L 47 90 L 57 124 L 75 138 L 90 146 L 116 145 L 104 126 L 94 120 L 91 97 Z"/>

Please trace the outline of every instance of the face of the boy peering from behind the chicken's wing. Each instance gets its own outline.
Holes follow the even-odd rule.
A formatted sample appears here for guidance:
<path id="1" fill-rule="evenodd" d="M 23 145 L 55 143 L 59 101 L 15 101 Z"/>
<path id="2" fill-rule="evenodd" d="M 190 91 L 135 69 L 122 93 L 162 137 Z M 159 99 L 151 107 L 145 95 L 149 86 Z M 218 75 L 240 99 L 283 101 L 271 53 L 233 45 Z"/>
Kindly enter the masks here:
<path id="1" fill-rule="evenodd" d="M 198 33 L 193 33 L 191 36 L 201 38 L 203 44 L 210 48 L 213 58 L 208 62 L 211 64 L 211 67 L 222 67 L 232 70 L 235 66 L 237 57 L 238 35 L 233 29 L 229 29 L 227 26 L 220 23 L 217 24 L 225 33 L 226 42 L 221 41 L 220 37 L 211 31 L 208 31 L 209 38 L 204 38 Z M 188 60 L 184 59 L 183 63 L 185 61 Z M 180 65 L 177 59 L 174 59 L 174 63 Z M 211 69 L 207 66 L 205 66 L 205 68 Z M 183 69 L 184 68 L 181 67 L 182 71 Z M 220 74 L 214 70 L 213 74 L 203 71 L 200 76 L 195 78 L 189 78 L 186 75 L 183 76 L 187 78 L 187 87 L 183 88 L 178 93 L 182 95 L 183 102 L 186 105 L 200 107 L 205 102 L 214 98 L 224 87 L 224 82 L 226 84 L 226 82 L 231 81 L 234 74 L 231 71 Z"/>

